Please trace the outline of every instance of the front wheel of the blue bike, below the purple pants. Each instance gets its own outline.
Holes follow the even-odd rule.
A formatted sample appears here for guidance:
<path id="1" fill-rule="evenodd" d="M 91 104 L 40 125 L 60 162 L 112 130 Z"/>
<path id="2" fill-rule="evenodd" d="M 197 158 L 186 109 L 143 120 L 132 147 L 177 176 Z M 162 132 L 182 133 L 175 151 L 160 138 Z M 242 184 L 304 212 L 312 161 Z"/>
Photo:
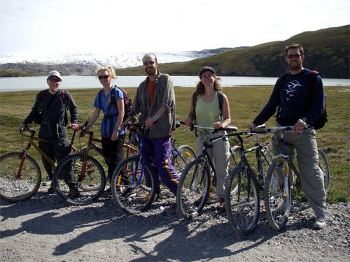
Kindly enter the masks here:
<path id="1" fill-rule="evenodd" d="M 127 214 L 147 210 L 155 198 L 155 180 L 148 165 L 142 165 L 140 156 L 124 159 L 113 172 L 114 202 Z"/>

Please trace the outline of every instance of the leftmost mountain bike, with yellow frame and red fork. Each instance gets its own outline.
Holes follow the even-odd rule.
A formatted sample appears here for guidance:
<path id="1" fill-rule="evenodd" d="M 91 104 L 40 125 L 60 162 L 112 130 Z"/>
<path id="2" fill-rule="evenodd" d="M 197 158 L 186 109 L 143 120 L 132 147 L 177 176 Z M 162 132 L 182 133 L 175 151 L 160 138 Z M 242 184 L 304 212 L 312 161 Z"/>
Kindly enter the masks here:
<path id="1" fill-rule="evenodd" d="M 80 127 L 81 128 L 81 127 Z M 28 135 L 27 133 L 30 133 Z M 0 157 L 0 199 L 11 203 L 25 201 L 36 194 L 41 184 L 41 169 L 36 160 L 28 154 L 32 147 L 47 161 L 52 168 L 57 167 L 54 159 L 50 159 L 36 142 L 48 143 L 48 140 L 35 136 L 36 131 L 23 126 L 20 134 L 29 138 L 22 152 L 10 152 Z M 78 149 L 73 146 L 76 131 L 73 131 L 71 147 L 73 152 Z"/>

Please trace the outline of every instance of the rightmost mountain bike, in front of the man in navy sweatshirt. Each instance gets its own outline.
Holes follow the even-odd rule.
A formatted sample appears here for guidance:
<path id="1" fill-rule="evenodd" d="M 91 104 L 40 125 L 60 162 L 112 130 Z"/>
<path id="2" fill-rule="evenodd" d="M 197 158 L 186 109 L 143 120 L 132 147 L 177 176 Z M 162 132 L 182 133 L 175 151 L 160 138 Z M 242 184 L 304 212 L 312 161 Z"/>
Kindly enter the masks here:
<path id="1" fill-rule="evenodd" d="M 294 187 L 293 175 L 296 175 L 300 180 L 300 173 L 285 150 L 287 143 L 284 141 L 284 133 L 290 132 L 292 129 L 293 126 L 277 126 L 267 129 L 267 131 L 274 133 L 279 147 L 279 154 L 274 156 L 274 161 L 267 171 L 264 190 L 267 220 L 275 230 L 285 228 L 288 221 L 292 201 L 291 189 Z M 330 187 L 330 169 L 328 160 L 321 149 L 318 149 L 318 162 L 318 167 L 323 171 L 327 194 Z"/>

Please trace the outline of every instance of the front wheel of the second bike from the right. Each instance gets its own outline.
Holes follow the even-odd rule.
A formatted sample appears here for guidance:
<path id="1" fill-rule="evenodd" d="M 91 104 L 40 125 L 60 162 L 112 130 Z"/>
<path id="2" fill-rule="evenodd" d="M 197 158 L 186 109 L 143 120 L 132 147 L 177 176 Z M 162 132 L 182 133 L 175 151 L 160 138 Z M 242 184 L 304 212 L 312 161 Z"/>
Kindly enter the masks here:
<path id="1" fill-rule="evenodd" d="M 225 210 L 233 230 L 249 235 L 258 223 L 259 194 L 255 179 L 245 166 L 231 170 L 225 185 Z"/>

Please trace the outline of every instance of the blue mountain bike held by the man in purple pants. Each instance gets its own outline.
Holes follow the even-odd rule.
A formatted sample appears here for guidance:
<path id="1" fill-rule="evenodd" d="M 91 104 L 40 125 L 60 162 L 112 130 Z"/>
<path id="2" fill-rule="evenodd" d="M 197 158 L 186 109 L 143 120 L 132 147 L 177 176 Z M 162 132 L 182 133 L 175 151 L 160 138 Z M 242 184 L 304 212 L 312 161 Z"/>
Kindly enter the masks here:
<path id="1" fill-rule="evenodd" d="M 146 126 L 144 123 L 125 124 L 135 128 L 139 133 L 139 154 L 120 162 L 112 177 L 113 199 L 127 214 L 136 214 L 147 210 L 155 198 L 155 179 L 151 172 L 151 165 L 155 166 L 154 159 L 151 163 L 144 161 L 144 136 Z M 179 173 L 183 166 L 195 158 L 195 152 L 188 145 L 177 148 L 175 140 L 172 140 L 172 163 Z M 123 169 L 127 177 L 123 177 Z M 147 178 L 147 179 L 146 179 Z"/>

